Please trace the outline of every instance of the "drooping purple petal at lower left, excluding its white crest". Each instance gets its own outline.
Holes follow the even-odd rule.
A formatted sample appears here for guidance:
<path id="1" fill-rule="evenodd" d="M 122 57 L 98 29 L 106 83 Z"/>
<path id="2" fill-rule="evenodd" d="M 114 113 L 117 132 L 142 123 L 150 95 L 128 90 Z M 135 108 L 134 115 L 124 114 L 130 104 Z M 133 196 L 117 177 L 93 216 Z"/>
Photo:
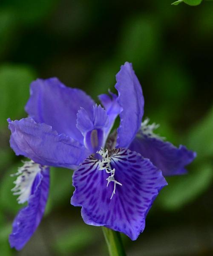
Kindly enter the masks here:
<path id="1" fill-rule="evenodd" d="M 40 172 L 35 177 L 28 206 L 22 208 L 17 214 L 9 236 L 10 246 L 16 250 L 21 250 L 29 241 L 45 211 L 49 193 L 49 168 L 37 166 Z"/>

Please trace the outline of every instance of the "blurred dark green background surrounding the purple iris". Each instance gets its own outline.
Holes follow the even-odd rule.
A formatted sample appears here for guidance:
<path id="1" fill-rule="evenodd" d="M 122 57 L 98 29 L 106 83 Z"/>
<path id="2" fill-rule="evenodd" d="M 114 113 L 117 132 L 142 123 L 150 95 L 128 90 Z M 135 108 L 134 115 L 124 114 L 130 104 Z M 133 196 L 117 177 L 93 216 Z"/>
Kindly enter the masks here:
<path id="1" fill-rule="evenodd" d="M 10 191 L 21 166 L 9 147 L 6 119 L 26 117 L 32 80 L 56 76 L 92 95 L 114 91 L 130 61 L 141 81 L 145 114 L 158 133 L 197 151 L 188 175 L 170 177 L 130 256 L 213 255 L 213 1 L 0 1 L 0 255 L 107 256 L 101 228 L 70 205 L 72 171 L 51 169 L 45 217 L 20 251 L 8 235 L 20 209 Z"/>

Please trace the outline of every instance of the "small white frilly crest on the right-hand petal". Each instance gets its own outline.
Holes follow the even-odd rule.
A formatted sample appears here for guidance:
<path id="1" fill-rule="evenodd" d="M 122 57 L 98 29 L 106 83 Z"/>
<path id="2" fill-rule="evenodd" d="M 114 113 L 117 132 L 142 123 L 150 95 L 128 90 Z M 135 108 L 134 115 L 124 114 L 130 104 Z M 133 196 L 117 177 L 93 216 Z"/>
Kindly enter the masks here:
<path id="1" fill-rule="evenodd" d="M 160 125 L 155 123 L 148 125 L 149 122 L 150 119 L 146 118 L 144 122 L 141 123 L 141 130 L 137 136 L 141 137 L 141 135 L 146 135 L 148 137 L 156 138 L 159 140 L 165 140 L 165 137 L 161 137 L 160 135 L 154 133 L 154 130 L 157 129 Z"/>

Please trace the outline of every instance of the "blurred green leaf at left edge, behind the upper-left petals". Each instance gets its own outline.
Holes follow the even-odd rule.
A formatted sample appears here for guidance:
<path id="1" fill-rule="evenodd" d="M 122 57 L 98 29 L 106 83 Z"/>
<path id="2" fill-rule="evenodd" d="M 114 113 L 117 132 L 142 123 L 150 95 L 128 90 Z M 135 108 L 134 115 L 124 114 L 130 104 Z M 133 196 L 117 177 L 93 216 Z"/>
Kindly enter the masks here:
<path id="1" fill-rule="evenodd" d="M 6 119 L 18 119 L 24 113 L 29 97 L 29 84 L 35 79 L 35 72 L 22 65 L 0 67 L 0 128 L 7 127 Z"/>

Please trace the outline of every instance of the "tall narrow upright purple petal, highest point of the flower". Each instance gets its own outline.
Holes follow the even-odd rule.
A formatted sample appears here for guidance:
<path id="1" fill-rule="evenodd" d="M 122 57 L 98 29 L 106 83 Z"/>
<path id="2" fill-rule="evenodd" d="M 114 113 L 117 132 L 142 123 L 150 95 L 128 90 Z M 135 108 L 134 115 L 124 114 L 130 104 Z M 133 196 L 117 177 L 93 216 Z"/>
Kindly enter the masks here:
<path id="1" fill-rule="evenodd" d="M 118 90 L 118 103 L 122 108 L 121 123 L 118 128 L 118 148 L 128 148 L 141 127 L 144 114 L 144 96 L 132 64 L 125 62 L 116 75 L 115 88 Z"/>

